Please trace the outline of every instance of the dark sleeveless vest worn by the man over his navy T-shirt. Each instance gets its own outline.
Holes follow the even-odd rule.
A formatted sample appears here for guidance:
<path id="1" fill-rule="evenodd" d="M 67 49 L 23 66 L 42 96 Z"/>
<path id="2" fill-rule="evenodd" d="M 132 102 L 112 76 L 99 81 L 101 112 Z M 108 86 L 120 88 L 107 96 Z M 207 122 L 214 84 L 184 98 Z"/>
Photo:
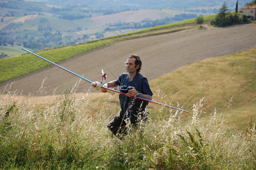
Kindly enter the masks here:
<path id="1" fill-rule="evenodd" d="M 129 73 L 121 74 L 121 83 L 124 86 L 127 86 L 128 75 Z M 142 74 L 137 73 L 130 84 L 130 86 L 135 87 L 135 89 L 140 93 L 142 78 L 145 77 Z M 121 107 L 120 116 L 124 118 L 124 120 L 128 119 L 131 122 L 135 122 L 136 120 L 141 120 L 142 118 L 148 116 L 148 102 L 136 99 L 134 97 L 127 97 L 121 94 L 119 95 L 119 101 Z"/>

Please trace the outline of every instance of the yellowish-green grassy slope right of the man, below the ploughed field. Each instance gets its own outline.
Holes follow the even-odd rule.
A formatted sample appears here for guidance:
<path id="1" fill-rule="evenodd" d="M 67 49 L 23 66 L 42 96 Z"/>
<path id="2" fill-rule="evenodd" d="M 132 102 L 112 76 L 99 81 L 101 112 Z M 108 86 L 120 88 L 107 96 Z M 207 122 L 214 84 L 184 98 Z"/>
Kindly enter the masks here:
<path id="1" fill-rule="evenodd" d="M 181 67 L 150 81 L 150 87 L 153 91 L 158 87 L 165 89 L 164 101 L 174 98 L 180 101 L 180 107 L 189 111 L 193 110 L 193 104 L 199 104 L 204 93 L 204 105 L 199 108 L 204 121 L 209 121 L 210 115 L 216 110 L 225 113 L 230 126 L 235 124 L 244 128 L 251 115 L 256 119 L 254 68 L 255 48 Z M 176 103 L 172 105 L 177 106 Z"/>

